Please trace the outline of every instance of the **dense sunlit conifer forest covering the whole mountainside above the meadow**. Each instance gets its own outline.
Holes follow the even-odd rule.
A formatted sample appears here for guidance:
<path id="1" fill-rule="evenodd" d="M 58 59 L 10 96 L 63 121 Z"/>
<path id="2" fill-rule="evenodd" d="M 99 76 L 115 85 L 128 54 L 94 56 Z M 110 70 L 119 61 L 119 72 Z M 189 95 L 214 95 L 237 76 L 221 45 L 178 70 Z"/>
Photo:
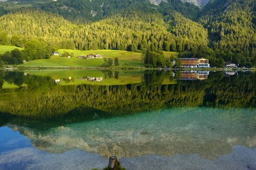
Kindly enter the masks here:
<path id="1" fill-rule="evenodd" d="M 44 51 L 150 49 L 208 58 L 211 66 L 222 61 L 256 65 L 253 0 L 213 0 L 202 8 L 180 0 L 159 5 L 142 0 L 7 1 L 0 3 L 0 16 L 0 45 L 25 47 L 43 39 Z"/>

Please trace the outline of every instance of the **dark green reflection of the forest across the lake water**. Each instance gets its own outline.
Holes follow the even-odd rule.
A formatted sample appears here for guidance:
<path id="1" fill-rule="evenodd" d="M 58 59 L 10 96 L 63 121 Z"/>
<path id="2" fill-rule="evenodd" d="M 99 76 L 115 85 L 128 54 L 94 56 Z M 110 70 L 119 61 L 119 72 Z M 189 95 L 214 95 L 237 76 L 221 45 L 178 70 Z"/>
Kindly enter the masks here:
<path id="1" fill-rule="evenodd" d="M 50 77 L 0 72 L 0 85 L 4 80 L 17 86 L 27 84 L 2 89 L 0 110 L 44 118 L 72 111 L 86 112 L 88 108 L 122 115 L 163 107 L 255 107 L 255 73 L 226 77 L 223 72 L 216 72 L 210 73 L 204 81 L 162 85 L 166 78 L 171 81 L 172 75 L 172 72 L 151 71 L 145 72 L 142 83 L 137 84 L 58 86 Z"/>

